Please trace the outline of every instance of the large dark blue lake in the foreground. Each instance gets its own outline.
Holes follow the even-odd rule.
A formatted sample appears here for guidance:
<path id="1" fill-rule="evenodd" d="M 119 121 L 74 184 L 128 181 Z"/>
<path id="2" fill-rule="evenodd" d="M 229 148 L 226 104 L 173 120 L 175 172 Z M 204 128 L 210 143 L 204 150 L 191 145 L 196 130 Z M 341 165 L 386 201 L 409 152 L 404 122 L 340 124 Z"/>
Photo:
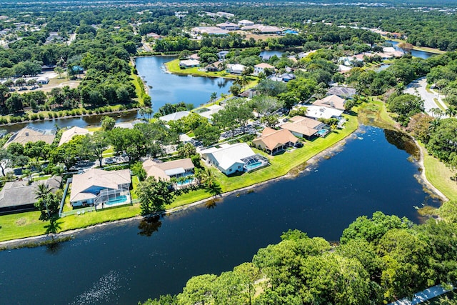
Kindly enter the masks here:
<path id="1" fill-rule="evenodd" d="M 338 240 L 357 216 L 374 211 L 418 223 L 413 206 L 439 203 L 416 181 L 418 165 L 398 138 L 361 126 L 342 151 L 300 176 L 216 206 L 186 209 L 149 226 L 107 224 L 54 247 L 1 251 L 0 304 L 137 304 L 178 293 L 191 276 L 251 261 L 288 229 Z"/>

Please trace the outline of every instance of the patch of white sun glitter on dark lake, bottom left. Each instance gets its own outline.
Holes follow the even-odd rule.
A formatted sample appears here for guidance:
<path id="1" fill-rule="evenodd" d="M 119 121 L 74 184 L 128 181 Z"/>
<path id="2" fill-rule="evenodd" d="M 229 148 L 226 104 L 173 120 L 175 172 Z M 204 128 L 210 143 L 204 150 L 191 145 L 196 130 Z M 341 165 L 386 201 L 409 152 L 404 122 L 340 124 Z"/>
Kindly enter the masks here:
<path id="1" fill-rule="evenodd" d="M 111 270 L 108 274 L 94 282 L 93 286 L 84 291 L 79 296 L 76 296 L 71 305 L 89 305 L 99 304 L 101 302 L 112 302 L 116 299 L 116 291 L 121 288 L 119 281 L 121 276 L 119 272 Z"/>

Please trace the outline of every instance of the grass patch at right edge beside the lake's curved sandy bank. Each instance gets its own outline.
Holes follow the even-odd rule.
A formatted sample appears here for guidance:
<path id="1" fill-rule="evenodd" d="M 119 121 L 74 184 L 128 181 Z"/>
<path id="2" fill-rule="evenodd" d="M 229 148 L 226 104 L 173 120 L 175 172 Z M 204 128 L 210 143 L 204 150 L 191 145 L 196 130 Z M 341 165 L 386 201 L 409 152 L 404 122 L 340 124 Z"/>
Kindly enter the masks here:
<path id="1" fill-rule="evenodd" d="M 453 171 L 443 162 L 428 154 L 423 144 L 420 144 L 423 153 L 423 165 L 427 180 L 439 189 L 449 200 L 457 200 L 457 182 L 451 180 Z"/>

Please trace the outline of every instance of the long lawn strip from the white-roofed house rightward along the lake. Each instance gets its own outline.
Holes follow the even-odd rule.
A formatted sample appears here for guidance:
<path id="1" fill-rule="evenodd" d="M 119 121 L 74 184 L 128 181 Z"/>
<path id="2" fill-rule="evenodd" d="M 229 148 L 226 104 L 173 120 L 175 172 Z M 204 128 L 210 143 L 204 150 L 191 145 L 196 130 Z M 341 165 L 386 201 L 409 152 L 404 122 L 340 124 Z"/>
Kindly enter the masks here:
<path id="1" fill-rule="evenodd" d="M 311 159 L 312 156 L 315 156 L 320 151 L 333 146 L 338 141 L 346 138 L 346 136 L 349 134 L 352 134 L 353 131 L 358 128 L 358 121 L 356 116 L 345 117 L 347 122 L 344 129 L 337 129 L 336 131 L 331 132 L 331 134 L 328 134 L 326 138 L 318 138 L 314 139 L 313 141 L 306 141 L 304 146 L 300 149 L 295 149 L 291 152 L 284 152 L 283 154 L 276 156 L 268 156 L 271 165 L 263 169 L 253 171 L 251 173 L 244 173 L 241 176 L 231 177 L 228 177 L 217 171 L 217 177 L 221 183 L 222 190 L 224 192 L 233 191 L 235 189 L 241 189 L 246 186 L 258 184 L 262 181 L 267 181 L 279 176 L 283 176 L 292 169 L 296 169 L 297 166 L 303 165 L 306 161 Z"/>

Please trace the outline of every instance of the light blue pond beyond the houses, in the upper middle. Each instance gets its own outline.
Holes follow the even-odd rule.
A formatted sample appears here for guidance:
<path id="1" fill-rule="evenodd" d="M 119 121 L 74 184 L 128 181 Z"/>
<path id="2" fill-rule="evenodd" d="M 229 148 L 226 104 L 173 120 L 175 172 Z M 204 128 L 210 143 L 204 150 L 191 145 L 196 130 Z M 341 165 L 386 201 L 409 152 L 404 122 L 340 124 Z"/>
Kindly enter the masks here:
<path id="1" fill-rule="evenodd" d="M 208 103 L 213 92 L 218 96 L 229 92 L 233 83 L 230 79 L 182 76 L 166 72 L 164 64 L 173 59 L 176 57 L 149 56 L 136 59 L 138 74 L 149 86 L 154 111 L 166 103 L 176 104 L 180 101 L 197 107 Z"/>

